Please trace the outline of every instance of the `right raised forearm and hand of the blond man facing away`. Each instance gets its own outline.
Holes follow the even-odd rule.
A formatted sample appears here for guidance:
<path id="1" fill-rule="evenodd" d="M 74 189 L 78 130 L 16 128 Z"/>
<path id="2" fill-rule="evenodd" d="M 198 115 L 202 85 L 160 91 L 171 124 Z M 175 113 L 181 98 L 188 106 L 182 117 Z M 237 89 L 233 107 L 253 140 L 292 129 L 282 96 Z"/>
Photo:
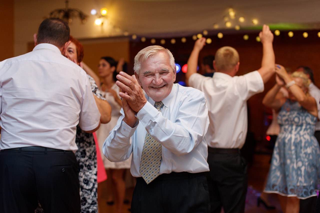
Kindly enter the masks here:
<path id="1" fill-rule="evenodd" d="M 275 53 L 272 46 L 273 34 L 268 25 L 263 25 L 259 36 L 263 46 L 263 56 L 261 68 L 258 69 L 258 72 L 262 77 L 263 83 L 266 83 L 275 73 Z"/>

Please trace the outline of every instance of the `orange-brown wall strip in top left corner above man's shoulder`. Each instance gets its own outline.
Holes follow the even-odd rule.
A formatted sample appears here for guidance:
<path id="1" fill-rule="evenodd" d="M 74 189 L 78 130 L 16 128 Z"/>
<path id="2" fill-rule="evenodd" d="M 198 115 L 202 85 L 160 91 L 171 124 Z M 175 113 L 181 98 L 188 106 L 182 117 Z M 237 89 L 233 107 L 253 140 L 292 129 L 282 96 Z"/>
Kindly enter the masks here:
<path id="1" fill-rule="evenodd" d="M 0 0 L 0 61 L 14 56 L 13 14 L 13 0 Z"/>

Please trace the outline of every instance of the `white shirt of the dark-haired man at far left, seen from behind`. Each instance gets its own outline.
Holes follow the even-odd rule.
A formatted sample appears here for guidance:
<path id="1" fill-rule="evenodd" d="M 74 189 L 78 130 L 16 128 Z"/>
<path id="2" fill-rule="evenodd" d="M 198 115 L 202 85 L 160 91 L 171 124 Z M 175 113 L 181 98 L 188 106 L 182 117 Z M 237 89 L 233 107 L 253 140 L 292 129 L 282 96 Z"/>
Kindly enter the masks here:
<path id="1" fill-rule="evenodd" d="M 77 149 L 76 125 L 80 117 L 81 126 L 81 109 L 88 107 L 83 98 L 91 91 L 90 84 L 85 72 L 56 46 L 39 44 L 32 52 L 0 62 L 0 87 L 0 149 L 26 145 Z M 94 102 L 93 96 L 89 98 Z M 93 123 L 82 127 L 91 130 Z"/>

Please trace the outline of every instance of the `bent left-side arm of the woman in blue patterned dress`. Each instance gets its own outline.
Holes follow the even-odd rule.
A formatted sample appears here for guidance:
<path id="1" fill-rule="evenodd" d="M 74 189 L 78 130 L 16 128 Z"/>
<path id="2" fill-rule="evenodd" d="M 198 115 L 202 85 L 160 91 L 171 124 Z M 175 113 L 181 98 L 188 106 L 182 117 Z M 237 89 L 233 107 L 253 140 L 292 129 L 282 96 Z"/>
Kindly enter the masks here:
<path id="1" fill-rule="evenodd" d="M 264 96 L 262 104 L 279 111 L 286 100 L 283 95 L 281 95 L 281 92 L 279 92 L 283 85 L 284 81 L 276 75 L 276 84 Z"/>

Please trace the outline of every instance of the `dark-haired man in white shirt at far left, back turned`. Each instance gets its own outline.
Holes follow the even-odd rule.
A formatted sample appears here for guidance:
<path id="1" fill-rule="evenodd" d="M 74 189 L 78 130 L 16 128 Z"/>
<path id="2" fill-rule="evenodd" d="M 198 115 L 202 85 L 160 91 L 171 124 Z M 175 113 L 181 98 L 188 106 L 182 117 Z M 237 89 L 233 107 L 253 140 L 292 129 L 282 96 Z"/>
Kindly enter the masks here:
<path id="1" fill-rule="evenodd" d="M 100 113 L 84 70 L 63 56 L 70 29 L 46 19 L 36 47 L 0 62 L 0 212 L 80 212 L 76 126 Z"/>

